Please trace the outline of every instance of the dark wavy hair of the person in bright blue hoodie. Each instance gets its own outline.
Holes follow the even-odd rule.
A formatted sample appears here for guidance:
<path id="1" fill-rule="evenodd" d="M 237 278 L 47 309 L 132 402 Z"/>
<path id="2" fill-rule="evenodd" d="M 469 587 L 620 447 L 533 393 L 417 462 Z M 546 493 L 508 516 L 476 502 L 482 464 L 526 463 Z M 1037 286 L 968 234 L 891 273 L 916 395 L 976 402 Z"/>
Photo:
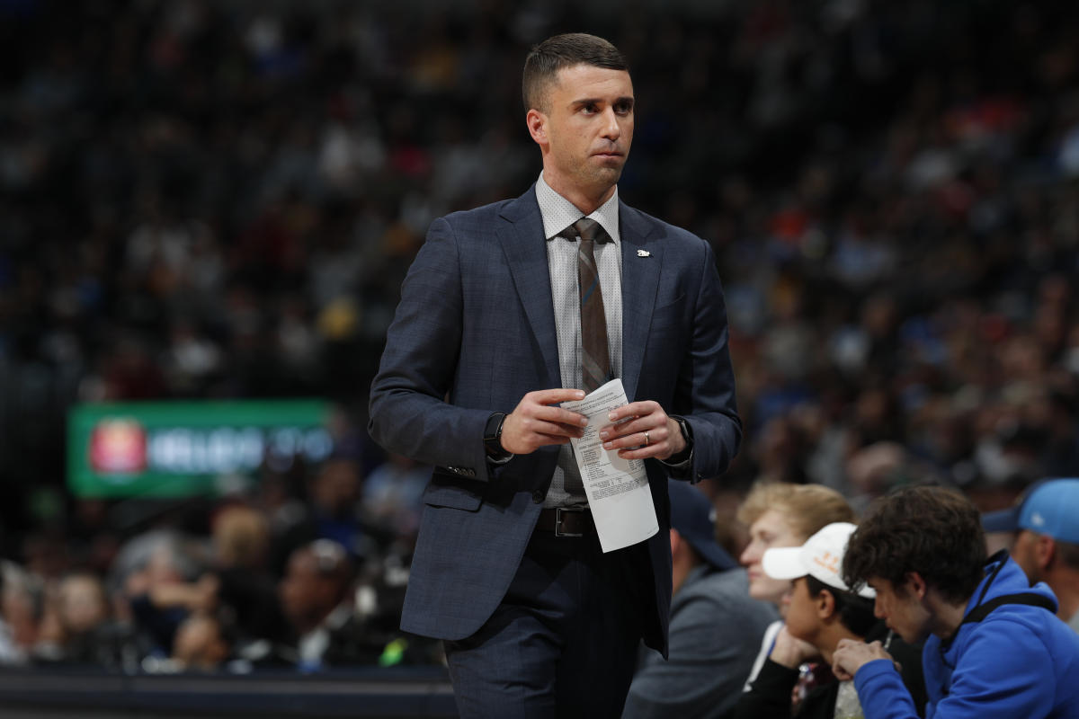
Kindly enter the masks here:
<path id="1" fill-rule="evenodd" d="M 939 486 L 902 487 L 879 498 L 850 536 L 843 580 L 884 579 L 898 593 L 916 571 L 948 602 L 965 602 L 986 562 L 981 516 L 969 499 Z"/>

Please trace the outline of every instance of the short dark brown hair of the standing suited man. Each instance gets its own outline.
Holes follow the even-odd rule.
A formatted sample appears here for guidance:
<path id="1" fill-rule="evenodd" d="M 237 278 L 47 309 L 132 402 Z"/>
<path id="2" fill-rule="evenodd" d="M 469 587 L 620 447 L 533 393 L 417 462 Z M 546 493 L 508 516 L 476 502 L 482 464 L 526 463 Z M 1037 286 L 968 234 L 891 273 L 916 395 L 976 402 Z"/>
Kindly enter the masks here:
<path id="1" fill-rule="evenodd" d="M 556 34 L 534 45 L 524 59 L 521 79 L 524 109 L 546 112 L 547 91 L 558 80 L 558 71 L 575 65 L 629 71 L 626 58 L 603 38 L 584 32 Z"/>

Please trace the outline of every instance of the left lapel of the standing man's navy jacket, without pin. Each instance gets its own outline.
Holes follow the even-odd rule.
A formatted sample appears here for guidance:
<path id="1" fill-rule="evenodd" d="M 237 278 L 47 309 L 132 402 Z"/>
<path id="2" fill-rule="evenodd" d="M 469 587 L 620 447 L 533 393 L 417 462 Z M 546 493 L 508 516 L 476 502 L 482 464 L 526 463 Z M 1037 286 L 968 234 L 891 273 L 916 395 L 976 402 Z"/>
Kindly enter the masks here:
<path id="1" fill-rule="evenodd" d="M 555 307 L 550 298 L 550 274 L 547 268 L 547 246 L 544 243 L 543 218 L 536 203 L 535 186 L 506 204 L 501 216 L 508 220 L 498 226 L 498 240 L 506 254 L 517 294 L 524 306 L 536 344 L 547 368 L 547 387 L 561 387 L 558 367 L 558 334 L 555 329 Z"/>

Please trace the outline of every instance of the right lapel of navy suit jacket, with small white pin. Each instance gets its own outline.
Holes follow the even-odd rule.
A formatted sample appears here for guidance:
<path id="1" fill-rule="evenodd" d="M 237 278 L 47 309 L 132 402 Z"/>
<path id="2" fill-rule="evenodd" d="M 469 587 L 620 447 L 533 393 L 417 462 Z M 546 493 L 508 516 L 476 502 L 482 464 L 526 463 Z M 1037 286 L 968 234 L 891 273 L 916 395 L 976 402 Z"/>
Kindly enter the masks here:
<path id="1" fill-rule="evenodd" d="M 619 202 L 622 235 L 622 384 L 626 398 L 636 401 L 637 384 L 656 304 L 656 288 L 663 268 L 663 243 L 650 235 L 655 223 Z M 641 253 L 644 253 L 643 257 Z"/>

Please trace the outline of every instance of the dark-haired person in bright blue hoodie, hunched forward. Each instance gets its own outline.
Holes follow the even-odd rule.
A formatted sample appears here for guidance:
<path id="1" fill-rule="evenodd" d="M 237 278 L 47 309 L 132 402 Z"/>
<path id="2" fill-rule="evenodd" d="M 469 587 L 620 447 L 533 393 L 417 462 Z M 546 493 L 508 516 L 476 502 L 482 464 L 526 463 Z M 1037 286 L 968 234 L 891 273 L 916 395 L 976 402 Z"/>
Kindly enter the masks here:
<path id="1" fill-rule="evenodd" d="M 1007 552 L 986 557 L 978 509 L 944 487 L 904 487 L 871 506 L 843 579 L 876 591 L 875 612 L 925 641 L 927 719 L 1079 718 L 1079 636 Z M 879 642 L 843 640 L 833 672 L 853 678 L 865 719 L 917 716 Z"/>

